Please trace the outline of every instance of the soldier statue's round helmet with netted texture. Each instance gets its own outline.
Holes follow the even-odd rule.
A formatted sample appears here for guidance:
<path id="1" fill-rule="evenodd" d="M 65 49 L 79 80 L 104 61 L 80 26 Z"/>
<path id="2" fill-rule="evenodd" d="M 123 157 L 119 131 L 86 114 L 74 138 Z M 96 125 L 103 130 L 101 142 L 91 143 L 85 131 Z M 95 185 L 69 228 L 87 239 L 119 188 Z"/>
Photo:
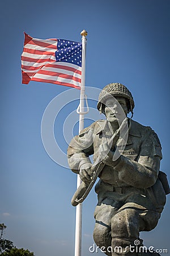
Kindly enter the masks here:
<path id="1" fill-rule="evenodd" d="M 99 94 L 99 101 L 97 103 L 97 109 L 100 111 L 100 113 L 104 113 L 104 101 L 105 98 L 107 98 L 109 95 L 112 95 L 113 97 L 120 96 L 126 98 L 128 113 L 131 112 L 131 114 L 133 115 L 133 109 L 135 106 L 133 96 L 125 85 L 122 85 L 118 82 L 108 84 L 103 88 L 103 90 L 101 90 Z"/>

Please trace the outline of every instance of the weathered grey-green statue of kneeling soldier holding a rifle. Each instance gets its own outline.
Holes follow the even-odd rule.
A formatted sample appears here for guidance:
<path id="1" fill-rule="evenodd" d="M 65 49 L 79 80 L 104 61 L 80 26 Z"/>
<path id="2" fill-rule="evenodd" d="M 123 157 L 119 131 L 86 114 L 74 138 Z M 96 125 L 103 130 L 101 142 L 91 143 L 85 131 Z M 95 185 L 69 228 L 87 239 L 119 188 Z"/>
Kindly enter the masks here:
<path id="1" fill-rule="evenodd" d="M 158 135 L 127 117 L 130 112 L 133 116 L 134 100 L 122 84 L 105 86 L 97 109 L 106 119 L 82 130 L 67 151 L 71 170 L 82 179 L 72 204 L 84 200 L 99 176 L 95 186 L 96 245 L 105 248 L 109 256 L 152 255 L 140 251 L 142 243 L 135 242 L 142 241 L 139 232 L 156 227 L 165 195 L 170 192 L 167 177 L 159 170 L 162 147 Z M 94 155 L 94 164 L 90 155 Z"/>

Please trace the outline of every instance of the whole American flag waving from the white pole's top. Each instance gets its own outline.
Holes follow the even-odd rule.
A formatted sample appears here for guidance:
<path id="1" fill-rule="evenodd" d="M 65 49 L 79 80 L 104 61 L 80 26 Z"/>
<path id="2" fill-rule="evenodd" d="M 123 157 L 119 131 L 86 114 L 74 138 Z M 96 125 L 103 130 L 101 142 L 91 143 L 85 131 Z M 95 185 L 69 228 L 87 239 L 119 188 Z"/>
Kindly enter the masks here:
<path id="1" fill-rule="evenodd" d="M 62 39 L 36 39 L 25 34 L 22 83 L 50 82 L 80 89 L 82 43 Z"/>

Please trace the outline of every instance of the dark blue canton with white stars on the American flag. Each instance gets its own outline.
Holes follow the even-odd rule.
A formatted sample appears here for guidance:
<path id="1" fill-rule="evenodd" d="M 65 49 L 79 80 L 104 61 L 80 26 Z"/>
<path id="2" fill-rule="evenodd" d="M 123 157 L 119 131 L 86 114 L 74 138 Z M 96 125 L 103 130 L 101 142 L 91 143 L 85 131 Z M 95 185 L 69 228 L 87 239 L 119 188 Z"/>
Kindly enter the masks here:
<path id="1" fill-rule="evenodd" d="M 82 67 L 82 43 L 58 39 L 56 61 L 72 63 Z"/>

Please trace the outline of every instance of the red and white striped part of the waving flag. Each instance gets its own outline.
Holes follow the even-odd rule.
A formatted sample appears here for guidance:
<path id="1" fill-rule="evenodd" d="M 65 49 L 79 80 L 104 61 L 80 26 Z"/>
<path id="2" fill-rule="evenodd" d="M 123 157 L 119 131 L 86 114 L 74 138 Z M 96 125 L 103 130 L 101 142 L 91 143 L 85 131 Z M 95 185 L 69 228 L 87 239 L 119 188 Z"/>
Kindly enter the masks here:
<path id="1" fill-rule="evenodd" d="M 22 53 L 23 84 L 29 81 L 50 82 L 79 89 L 82 68 L 62 61 L 56 62 L 57 39 L 36 39 L 25 34 Z"/>

